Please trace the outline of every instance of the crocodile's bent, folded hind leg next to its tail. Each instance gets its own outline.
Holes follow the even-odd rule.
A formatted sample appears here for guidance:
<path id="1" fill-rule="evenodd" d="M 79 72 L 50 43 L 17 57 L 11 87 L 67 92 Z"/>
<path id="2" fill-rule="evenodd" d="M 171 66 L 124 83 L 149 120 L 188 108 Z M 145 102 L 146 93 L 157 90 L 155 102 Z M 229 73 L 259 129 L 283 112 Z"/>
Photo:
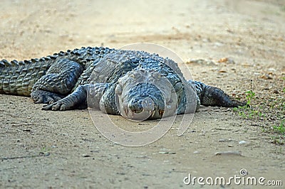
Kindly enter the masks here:
<path id="1" fill-rule="evenodd" d="M 57 60 L 46 75 L 33 85 L 31 97 L 35 103 L 51 104 L 66 97 L 83 72 L 80 64 L 68 60 Z"/>

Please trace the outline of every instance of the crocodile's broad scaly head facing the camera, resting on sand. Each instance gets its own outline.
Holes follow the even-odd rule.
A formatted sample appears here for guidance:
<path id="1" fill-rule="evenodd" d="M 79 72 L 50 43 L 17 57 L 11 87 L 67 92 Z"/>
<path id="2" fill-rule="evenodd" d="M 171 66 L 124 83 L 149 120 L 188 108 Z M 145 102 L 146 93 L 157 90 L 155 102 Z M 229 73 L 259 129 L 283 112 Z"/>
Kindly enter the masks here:
<path id="1" fill-rule="evenodd" d="M 120 114 L 142 121 L 177 112 L 177 95 L 167 77 L 155 70 L 137 68 L 118 80 L 115 102 Z"/>

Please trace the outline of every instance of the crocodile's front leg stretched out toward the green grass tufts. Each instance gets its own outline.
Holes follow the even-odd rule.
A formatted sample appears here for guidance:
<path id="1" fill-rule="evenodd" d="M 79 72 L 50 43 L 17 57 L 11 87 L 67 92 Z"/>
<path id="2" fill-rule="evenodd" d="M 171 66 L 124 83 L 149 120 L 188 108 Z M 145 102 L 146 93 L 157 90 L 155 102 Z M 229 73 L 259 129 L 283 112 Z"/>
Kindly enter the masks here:
<path id="1" fill-rule="evenodd" d="M 244 106 L 245 102 L 240 102 L 234 97 L 229 97 L 223 90 L 205 85 L 202 82 L 190 81 L 195 85 L 197 95 L 200 99 L 201 105 L 204 106 L 219 106 L 219 107 L 239 107 Z"/>

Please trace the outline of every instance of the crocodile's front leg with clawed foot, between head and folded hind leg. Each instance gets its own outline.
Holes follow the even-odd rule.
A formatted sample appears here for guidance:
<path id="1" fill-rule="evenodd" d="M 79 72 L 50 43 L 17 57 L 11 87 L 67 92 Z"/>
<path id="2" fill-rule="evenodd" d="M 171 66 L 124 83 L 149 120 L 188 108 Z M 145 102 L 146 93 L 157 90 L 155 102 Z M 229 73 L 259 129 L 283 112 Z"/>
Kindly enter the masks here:
<path id="1" fill-rule="evenodd" d="M 107 83 L 80 85 L 67 97 L 43 106 L 43 110 L 63 111 L 68 109 L 86 109 L 87 107 L 99 109 L 100 99 L 107 88 Z"/>

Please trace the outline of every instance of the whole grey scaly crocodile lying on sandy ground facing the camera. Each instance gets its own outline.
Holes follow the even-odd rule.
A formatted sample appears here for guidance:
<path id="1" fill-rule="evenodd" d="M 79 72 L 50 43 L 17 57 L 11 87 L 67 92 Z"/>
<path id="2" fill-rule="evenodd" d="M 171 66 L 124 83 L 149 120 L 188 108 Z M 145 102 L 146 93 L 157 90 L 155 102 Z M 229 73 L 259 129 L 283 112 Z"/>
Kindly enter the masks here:
<path id="1" fill-rule="evenodd" d="M 0 60 L 0 94 L 31 97 L 43 110 L 86 109 L 128 119 L 243 106 L 217 87 L 185 80 L 170 58 L 140 50 L 82 47 L 43 58 Z"/>

